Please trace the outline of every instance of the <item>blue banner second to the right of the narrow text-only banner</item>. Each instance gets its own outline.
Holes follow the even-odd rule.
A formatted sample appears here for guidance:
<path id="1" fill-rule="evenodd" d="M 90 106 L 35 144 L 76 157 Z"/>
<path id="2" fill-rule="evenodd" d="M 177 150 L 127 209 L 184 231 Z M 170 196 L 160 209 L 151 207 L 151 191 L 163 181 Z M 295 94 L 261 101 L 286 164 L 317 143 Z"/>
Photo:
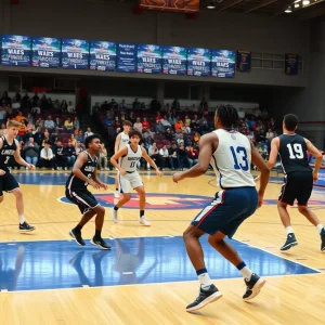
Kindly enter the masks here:
<path id="1" fill-rule="evenodd" d="M 180 47 L 165 47 L 162 50 L 162 73 L 186 75 L 187 51 Z"/>

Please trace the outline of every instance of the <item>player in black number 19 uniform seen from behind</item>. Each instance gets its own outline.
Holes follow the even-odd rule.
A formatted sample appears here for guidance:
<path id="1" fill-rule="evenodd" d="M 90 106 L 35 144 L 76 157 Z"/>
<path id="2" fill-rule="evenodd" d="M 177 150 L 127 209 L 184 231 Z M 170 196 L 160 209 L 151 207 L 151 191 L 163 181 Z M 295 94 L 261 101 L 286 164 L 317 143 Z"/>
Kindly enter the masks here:
<path id="1" fill-rule="evenodd" d="M 318 179 L 318 170 L 322 166 L 322 153 L 307 139 L 295 133 L 298 126 L 298 117 L 287 114 L 283 121 L 283 134 L 271 142 L 271 153 L 268 166 L 272 169 L 280 154 L 281 162 L 285 172 L 277 210 L 281 221 L 287 232 L 287 240 L 281 250 L 288 250 L 298 245 L 290 223 L 287 205 L 292 206 L 295 199 L 298 202 L 298 210 L 309 222 L 316 226 L 321 235 L 321 250 L 325 252 L 325 229 L 313 211 L 308 208 L 308 200 L 313 190 L 313 182 Z M 309 166 L 307 152 L 315 157 L 315 168 Z"/>

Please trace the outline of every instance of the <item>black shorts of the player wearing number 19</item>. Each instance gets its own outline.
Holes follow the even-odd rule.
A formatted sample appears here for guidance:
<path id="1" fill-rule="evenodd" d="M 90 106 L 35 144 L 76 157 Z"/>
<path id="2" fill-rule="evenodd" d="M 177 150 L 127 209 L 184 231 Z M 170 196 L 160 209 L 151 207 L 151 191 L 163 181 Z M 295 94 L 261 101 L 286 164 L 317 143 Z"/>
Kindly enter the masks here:
<path id="1" fill-rule="evenodd" d="M 292 206 L 297 199 L 299 206 L 307 206 L 313 191 L 313 174 L 309 171 L 296 171 L 285 176 L 278 200 Z"/>

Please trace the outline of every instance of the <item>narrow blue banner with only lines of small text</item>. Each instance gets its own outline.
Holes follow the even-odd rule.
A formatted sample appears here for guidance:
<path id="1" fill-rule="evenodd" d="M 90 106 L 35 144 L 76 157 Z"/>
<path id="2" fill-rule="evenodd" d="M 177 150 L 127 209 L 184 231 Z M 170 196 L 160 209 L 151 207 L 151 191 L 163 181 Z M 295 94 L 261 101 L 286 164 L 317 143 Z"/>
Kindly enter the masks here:
<path id="1" fill-rule="evenodd" d="M 136 72 L 136 44 L 119 43 L 117 46 L 117 70 L 121 73 Z"/>

